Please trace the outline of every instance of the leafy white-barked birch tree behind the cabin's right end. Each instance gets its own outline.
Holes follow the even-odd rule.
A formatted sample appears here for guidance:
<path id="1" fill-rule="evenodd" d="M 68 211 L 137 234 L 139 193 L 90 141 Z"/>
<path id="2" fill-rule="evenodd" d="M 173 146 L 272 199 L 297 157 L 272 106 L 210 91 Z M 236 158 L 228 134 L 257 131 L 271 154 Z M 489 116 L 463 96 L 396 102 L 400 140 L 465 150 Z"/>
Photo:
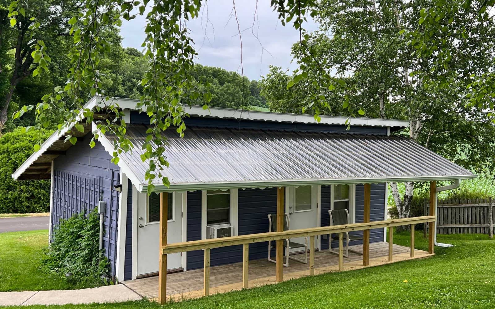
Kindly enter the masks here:
<path id="1" fill-rule="evenodd" d="M 319 104 L 322 114 L 348 116 L 352 115 L 349 107 L 357 106 L 361 115 L 405 119 L 409 121 L 408 136 L 412 140 L 466 168 L 490 169 L 490 135 L 494 132 L 491 118 L 466 107 L 466 99 L 455 90 L 469 83 L 463 71 L 489 65 L 485 57 L 490 48 L 480 46 L 480 54 L 471 62 L 453 64 L 459 73 L 450 76 L 451 88 L 427 87 L 423 82 L 425 75 L 414 72 L 430 72 L 432 60 L 417 57 L 415 47 L 403 35 L 404 29 L 418 27 L 419 11 L 426 2 L 323 0 L 318 9 L 321 27 L 308 35 L 309 49 L 300 43 L 293 47 L 296 60 L 311 68 L 307 70 L 313 74 L 307 74 L 291 87 L 297 88 L 298 96 L 310 97 L 311 92 L 317 91 L 322 96 L 321 103 L 303 101 L 292 111 L 313 110 L 314 104 Z M 494 29 L 480 31 L 494 39 Z M 317 87 L 325 79 L 318 70 L 321 63 L 325 64 L 324 74 L 340 78 L 345 90 Z M 439 78 L 434 73 L 429 77 Z M 271 72 L 264 79 L 266 89 L 277 89 L 277 81 L 281 80 L 284 79 L 280 72 Z M 301 93 L 300 88 L 306 92 Z M 275 91 L 264 91 L 270 106 L 281 97 L 276 97 Z M 341 102 L 340 108 L 336 108 L 336 101 Z M 400 218 L 409 216 L 414 186 L 414 182 L 405 182 L 405 192 L 400 195 L 397 183 L 391 183 Z"/>

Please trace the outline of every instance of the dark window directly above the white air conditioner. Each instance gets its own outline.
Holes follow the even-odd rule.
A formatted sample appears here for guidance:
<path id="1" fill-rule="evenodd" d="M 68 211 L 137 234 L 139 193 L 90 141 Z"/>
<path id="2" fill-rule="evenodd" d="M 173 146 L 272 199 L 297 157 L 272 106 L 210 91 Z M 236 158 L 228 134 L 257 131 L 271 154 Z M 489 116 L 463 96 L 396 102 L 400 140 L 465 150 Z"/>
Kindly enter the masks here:
<path id="1" fill-rule="evenodd" d="M 206 193 L 206 224 L 230 223 L 230 191 L 208 190 Z"/>

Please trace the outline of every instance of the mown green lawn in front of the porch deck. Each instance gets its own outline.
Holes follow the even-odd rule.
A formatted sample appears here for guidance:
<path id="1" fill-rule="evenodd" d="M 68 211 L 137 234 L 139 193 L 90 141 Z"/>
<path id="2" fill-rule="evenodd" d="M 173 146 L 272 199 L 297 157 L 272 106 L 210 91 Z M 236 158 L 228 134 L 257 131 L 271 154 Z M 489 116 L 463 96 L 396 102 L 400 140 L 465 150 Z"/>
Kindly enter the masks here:
<path id="1" fill-rule="evenodd" d="M 436 247 L 437 255 L 428 259 L 304 277 L 276 285 L 176 302 L 165 308 L 494 308 L 495 241 L 489 240 L 486 235 L 439 235 L 438 238 L 441 242 L 455 244 L 455 247 Z M 394 239 L 395 243 L 407 246 L 409 234 L 396 233 Z M 428 241 L 423 238 L 422 232 L 416 232 L 415 245 L 417 249 L 427 248 Z M 147 301 L 49 307 L 161 308 Z"/>

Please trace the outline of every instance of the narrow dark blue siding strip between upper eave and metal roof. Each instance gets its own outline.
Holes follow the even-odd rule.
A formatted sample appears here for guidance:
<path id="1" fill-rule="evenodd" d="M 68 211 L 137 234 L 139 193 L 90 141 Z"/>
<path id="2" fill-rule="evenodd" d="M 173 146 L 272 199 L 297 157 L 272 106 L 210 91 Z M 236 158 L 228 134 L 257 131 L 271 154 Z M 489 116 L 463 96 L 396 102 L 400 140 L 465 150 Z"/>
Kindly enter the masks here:
<path id="1" fill-rule="evenodd" d="M 209 128 L 231 128 L 231 129 L 259 129 L 259 130 L 281 130 L 281 131 L 299 131 L 299 132 L 332 132 L 332 133 L 361 133 L 387 135 L 386 127 L 363 127 L 343 125 L 326 125 L 326 124 L 298 124 L 282 123 L 258 120 L 237 120 L 237 119 L 219 119 L 211 117 L 190 117 L 184 120 L 186 126 L 209 127 Z M 131 111 L 132 124 L 149 125 L 149 117 L 146 113 Z"/>

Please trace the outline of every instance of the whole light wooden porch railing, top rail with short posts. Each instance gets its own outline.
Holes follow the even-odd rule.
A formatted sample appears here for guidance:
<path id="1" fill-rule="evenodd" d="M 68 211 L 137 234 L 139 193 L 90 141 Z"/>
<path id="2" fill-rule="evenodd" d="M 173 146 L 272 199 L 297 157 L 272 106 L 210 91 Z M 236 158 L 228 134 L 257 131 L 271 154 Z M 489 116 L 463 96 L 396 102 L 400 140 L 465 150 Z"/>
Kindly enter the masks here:
<path id="1" fill-rule="evenodd" d="M 166 255 L 178 252 L 187 252 L 194 250 L 204 250 L 204 288 L 203 295 L 209 295 L 209 273 L 210 273 L 210 250 L 213 248 L 228 247 L 235 245 L 243 245 L 243 287 L 248 286 L 248 263 L 249 263 L 249 244 L 264 241 L 274 241 L 283 240 L 287 238 L 296 237 L 310 237 L 309 241 L 309 275 L 314 274 L 314 246 L 315 246 L 315 236 L 323 234 L 339 234 L 339 269 L 343 269 L 344 259 L 343 259 L 343 240 L 344 232 L 351 231 L 369 231 L 373 228 L 384 228 L 389 229 L 389 261 L 393 259 L 393 227 L 399 225 L 411 225 L 411 257 L 414 257 L 414 225 L 426 222 L 435 222 L 437 220 L 436 216 L 423 216 L 414 218 L 404 218 L 396 220 L 384 220 L 384 221 L 373 221 L 373 222 L 362 222 L 362 223 L 352 223 L 344 225 L 332 225 L 332 226 L 322 226 L 322 227 L 312 227 L 303 228 L 295 230 L 286 230 L 281 232 L 266 232 L 258 234 L 248 234 L 241 236 L 214 238 L 214 239 L 203 239 L 194 240 L 182 243 L 167 244 L 161 247 L 161 254 L 166 261 Z M 365 254 L 363 252 L 363 265 L 369 265 L 369 245 L 367 247 L 368 252 Z M 363 246 L 363 250 L 366 248 Z M 366 257 L 368 261 L 365 261 Z M 166 276 L 166 271 L 165 274 Z M 165 279 L 166 282 L 166 279 Z M 165 295 L 166 295 L 166 291 Z"/>

